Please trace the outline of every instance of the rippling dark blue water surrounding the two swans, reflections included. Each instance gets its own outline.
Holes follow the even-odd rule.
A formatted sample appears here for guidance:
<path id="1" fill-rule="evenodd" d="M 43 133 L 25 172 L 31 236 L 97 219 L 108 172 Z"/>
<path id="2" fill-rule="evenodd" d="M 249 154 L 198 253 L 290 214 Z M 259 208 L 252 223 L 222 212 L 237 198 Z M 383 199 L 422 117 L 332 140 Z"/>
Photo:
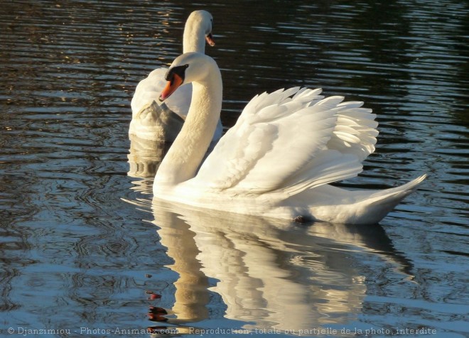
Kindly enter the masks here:
<path id="1" fill-rule="evenodd" d="M 2 337 L 468 337 L 469 4 L 1 7 Z M 207 53 L 222 69 L 226 127 L 255 94 L 322 87 L 379 121 L 364 172 L 341 184 L 428 173 L 421 190 L 375 227 L 152 206 L 151 177 L 136 176 L 164 149 L 129 140 L 130 100 L 180 53 L 194 9 L 215 18 Z"/>

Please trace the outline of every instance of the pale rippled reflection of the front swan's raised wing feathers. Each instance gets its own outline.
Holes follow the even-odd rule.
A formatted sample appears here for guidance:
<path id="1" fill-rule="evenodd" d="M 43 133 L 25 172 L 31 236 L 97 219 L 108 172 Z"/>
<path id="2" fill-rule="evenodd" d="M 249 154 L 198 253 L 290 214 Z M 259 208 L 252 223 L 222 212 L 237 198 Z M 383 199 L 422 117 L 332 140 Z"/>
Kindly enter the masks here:
<path id="1" fill-rule="evenodd" d="M 308 254 L 279 239 L 283 231 L 271 224 L 262 226 L 271 231 L 247 233 L 242 228 L 224 227 L 195 236 L 198 247 L 204 248 L 198 255 L 204 273 L 220 280 L 212 290 L 227 304 L 226 317 L 254 322 L 247 325 L 250 328 L 298 330 L 326 324 L 329 315 L 343 322 L 356 316 L 366 286 L 353 268 L 327 280 L 334 272 L 322 261 L 303 261 Z M 345 255 L 340 259 L 346 259 Z"/>

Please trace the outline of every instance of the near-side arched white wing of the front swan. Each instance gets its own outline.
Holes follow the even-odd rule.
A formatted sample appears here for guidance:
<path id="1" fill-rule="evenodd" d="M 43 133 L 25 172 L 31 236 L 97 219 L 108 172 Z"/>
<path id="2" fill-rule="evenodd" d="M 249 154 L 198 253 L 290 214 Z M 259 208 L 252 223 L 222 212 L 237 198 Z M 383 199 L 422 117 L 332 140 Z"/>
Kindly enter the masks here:
<path id="1" fill-rule="evenodd" d="M 318 101 L 319 92 L 295 88 L 254 97 L 195 180 L 217 190 L 261 193 L 296 191 L 292 185 L 297 182 L 305 189 L 313 184 L 311 179 L 324 184 L 355 176 L 361 170 L 355 157 L 344 158 L 326 146 L 333 137 L 343 97 Z M 313 162 L 318 168 L 311 168 Z"/>

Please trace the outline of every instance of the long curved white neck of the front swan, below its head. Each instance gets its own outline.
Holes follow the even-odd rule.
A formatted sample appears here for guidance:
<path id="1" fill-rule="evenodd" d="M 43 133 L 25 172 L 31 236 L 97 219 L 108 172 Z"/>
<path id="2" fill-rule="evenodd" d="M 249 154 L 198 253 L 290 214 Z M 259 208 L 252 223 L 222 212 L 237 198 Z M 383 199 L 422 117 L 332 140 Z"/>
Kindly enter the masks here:
<path id="1" fill-rule="evenodd" d="M 193 178 L 210 146 L 222 109 L 222 77 L 213 63 L 203 80 L 192 82 L 188 115 L 158 168 L 155 187 L 163 189 Z"/>

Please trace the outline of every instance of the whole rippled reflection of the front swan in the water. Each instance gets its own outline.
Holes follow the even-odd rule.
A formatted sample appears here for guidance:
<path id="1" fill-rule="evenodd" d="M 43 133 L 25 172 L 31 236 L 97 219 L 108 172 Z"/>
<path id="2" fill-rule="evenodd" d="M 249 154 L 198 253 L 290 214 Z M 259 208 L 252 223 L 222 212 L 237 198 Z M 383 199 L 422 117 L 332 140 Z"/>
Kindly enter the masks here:
<path id="1" fill-rule="evenodd" d="M 152 208 L 161 244 L 174 261 L 170 268 L 179 274 L 165 325 L 178 325 L 180 334 L 191 333 L 184 324 L 213 317 L 210 291 L 242 329 L 298 334 L 357 320 L 367 293 L 363 271 L 376 269 L 362 263 L 362 255 L 377 255 L 411 278 L 411 264 L 377 224 L 306 225 L 156 200 Z"/>

